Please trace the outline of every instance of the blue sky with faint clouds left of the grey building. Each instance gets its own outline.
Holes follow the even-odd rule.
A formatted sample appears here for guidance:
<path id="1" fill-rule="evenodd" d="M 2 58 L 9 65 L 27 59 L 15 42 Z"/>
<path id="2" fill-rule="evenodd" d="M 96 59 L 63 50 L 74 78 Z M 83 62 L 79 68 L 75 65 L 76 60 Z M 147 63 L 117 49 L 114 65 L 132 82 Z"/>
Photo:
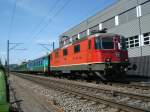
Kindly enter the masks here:
<path id="1" fill-rule="evenodd" d="M 116 0 L 0 0 L 0 58 L 6 42 L 24 43 L 10 51 L 10 63 L 38 58 L 47 51 L 38 43 L 58 47 L 58 36 Z M 15 7 L 16 3 L 16 7 Z M 13 13 L 14 12 L 14 13 Z M 48 46 L 52 50 L 51 46 Z"/>

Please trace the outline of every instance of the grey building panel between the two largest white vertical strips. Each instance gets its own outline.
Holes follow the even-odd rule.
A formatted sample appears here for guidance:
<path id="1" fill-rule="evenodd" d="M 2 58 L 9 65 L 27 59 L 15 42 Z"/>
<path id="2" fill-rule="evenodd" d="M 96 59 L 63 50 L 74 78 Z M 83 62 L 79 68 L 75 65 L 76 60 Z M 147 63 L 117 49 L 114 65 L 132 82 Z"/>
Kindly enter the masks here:
<path id="1" fill-rule="evenodd" d="M 119 15 L 119 24 L 124 24 L 137 18 L 136 8 L 132 8 Z"/>

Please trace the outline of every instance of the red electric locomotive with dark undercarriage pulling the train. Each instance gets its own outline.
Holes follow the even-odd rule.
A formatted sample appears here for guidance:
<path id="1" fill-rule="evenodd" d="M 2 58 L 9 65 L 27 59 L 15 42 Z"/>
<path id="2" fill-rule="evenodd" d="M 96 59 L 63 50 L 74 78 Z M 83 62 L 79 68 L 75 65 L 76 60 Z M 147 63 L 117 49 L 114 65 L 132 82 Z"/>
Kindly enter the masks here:
<path id="1" fill-rule="evenodd" d="M 86 74 L 102 80 L 124 76 L 130 65 L 125 38 L 102 32 L 55 49 L 49 58 L 51 73 Z"/>

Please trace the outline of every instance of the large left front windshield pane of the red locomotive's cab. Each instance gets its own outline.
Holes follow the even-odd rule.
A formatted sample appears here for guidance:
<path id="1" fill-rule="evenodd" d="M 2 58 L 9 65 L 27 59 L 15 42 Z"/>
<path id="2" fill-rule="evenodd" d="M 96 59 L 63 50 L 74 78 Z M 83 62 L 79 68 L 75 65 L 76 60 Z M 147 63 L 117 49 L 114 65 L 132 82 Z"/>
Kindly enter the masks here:
<path id="1" fill-rule="evenodd" d="M 102 48 L 103 49 L 114 49 L 113 38 L 102 38 Z"/>

